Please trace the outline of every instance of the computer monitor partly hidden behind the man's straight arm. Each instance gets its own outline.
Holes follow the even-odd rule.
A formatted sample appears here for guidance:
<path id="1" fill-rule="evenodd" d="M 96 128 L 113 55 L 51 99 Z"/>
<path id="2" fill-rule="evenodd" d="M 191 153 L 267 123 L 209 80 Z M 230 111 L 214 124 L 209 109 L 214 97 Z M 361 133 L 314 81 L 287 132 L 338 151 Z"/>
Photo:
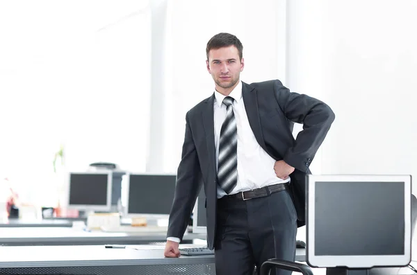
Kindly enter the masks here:
<path id="1" fill-rule="evenodd" d="M 167 218 L 174 200 L 177 175 L 156 173 L 126 174 L 126 218 L 144 216 Z"/>

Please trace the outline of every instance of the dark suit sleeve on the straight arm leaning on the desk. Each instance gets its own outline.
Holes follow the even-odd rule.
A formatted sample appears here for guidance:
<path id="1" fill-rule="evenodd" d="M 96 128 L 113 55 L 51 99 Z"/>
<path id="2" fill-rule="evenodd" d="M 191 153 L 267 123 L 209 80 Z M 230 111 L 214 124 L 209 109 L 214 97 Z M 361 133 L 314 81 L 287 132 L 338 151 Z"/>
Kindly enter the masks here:
<path id="1" fill-rule="evenodd" d="M 167 237 L 176 237 L 181 240 L 202 186 L 201 168 L 188 116 L 189 112 L 186 114 L 186 134 L 177 170 L 177 185 L 167 231 Z"/>

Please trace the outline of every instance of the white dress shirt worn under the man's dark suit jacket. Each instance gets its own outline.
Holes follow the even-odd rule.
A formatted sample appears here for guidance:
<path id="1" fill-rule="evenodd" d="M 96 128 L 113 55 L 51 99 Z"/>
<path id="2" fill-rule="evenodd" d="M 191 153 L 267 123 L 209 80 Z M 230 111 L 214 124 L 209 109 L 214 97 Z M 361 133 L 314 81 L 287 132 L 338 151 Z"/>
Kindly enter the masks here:
<path id="1" fill-rule="evenodd" d="M 214 96 L 214 144 L 215 166 L 217 170 L 220 130 L 226 118 L 226 105 L 222 103 L 226 96 L 223 96 L 218 91 L 214 91 Z M 229 96 L 234 98 L 232 108 L 238 130 L 238 183 L 229 195 L 290 181 L 289 177 L 288 179 L 280 179 L 277 177 L 274 170 L 275 159 L 272 159 L 255 139 L 249 120 L 247 119 L 245 104 L 243 103 L 241 81 L 239 81 Z M 217 186 L 217 191 L 218 198 L 227 195 L 220 186 Z M 168 237 L 167 240 L 180 241 L 179 238 L 174 237 Z"/>

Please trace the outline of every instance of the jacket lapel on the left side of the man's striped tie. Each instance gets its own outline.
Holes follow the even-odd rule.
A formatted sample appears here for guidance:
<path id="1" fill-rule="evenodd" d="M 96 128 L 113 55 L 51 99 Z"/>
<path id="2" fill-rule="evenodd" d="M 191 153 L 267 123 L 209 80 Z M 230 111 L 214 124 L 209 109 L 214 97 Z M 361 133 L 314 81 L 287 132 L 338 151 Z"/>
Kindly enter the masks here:
<path id="1" fill-rule="evenodd" d="M 214 145 L 214 94 L 205 100 L 206 106 L 202 110 L 204 131 L 206 132 L 206 144 L 208 161 L 215 170 L 215 145 Z"/>

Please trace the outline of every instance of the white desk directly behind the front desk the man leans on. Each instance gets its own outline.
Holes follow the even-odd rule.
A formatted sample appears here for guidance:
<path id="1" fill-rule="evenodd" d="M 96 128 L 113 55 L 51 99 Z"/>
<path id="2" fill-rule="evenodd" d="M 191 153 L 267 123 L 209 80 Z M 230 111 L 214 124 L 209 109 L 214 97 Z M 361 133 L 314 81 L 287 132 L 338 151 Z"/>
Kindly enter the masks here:
<path id="1" fill-rule="evenodd" d="M 71 227 L 3 227 L 0 228 L 0 245 L 147 245 L 152 242 L 165 242 L 163 232 L 111 233 L 102 231 L 83 231 Z M 206 239 L 205 234 L 187 233 L 183 243 L 193 243 L 194 239 Z M 0 256 L 1 258 L 1 256 Z"/>

